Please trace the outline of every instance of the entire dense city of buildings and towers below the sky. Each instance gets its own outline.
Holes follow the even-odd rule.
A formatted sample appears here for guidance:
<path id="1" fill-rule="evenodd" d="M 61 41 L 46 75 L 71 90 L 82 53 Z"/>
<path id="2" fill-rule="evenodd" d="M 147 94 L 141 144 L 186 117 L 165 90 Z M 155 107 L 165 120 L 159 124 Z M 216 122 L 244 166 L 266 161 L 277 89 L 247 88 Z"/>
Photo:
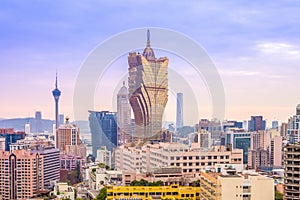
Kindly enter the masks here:
<path id="1" fill-rule="evenodd" d="M 168 58 L 155 57 L 149 31 L 143 53 L 129 53 L 128 64 L 128 88 L 124 82 L 117 94 L 117 112 L 88 111 L 92 155 L 79 127 L 69 118 L 59 123 L 57 77 L 53 133 L 31 134 L 28 124 L 25 132 L 0 129 L 0 199 L 50 191 L 57 199 L 75 199 L 75 188 L 60 181 L 80 182 L 89 194 L 106 187 L 107 199 L 274 199 L 276 170 L 284 178 L 285 199 L 300 199 L 300 105 L 281 126 L 274 121 L 267 128 L 262 116 L 243 122 L 200 119 L 180 137 L 182 93 L 176 128 L 162 129 Z M 161 185 L 130 186 L 139 180 Z"/>

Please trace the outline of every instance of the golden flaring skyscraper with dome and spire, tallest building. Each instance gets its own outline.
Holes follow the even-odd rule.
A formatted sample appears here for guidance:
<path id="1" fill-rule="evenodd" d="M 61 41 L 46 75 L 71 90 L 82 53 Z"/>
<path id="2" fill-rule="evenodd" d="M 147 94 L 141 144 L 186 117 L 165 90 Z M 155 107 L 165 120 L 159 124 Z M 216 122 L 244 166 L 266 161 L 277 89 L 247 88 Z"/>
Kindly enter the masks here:
<path id="1" fill-rule="evenodd" d="M 136 137 L 158 140 L 168 102 L 168 58 L 155 58 L 147 32 L 143 54 L 129 53 L 129 101 L 135 119 Z"/>

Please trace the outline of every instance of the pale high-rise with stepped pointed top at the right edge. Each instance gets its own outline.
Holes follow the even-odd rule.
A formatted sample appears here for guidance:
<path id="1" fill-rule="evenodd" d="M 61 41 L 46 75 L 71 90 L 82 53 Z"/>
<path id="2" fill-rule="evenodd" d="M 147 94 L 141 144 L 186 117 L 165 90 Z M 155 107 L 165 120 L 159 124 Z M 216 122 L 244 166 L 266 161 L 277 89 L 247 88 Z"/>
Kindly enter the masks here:
<path id="1" fill-rule="evenodd" d="M 288 120 L 286 138 L 289 143 L 300 142 L 300 104 L 296 107 L 296 115 Z"/>

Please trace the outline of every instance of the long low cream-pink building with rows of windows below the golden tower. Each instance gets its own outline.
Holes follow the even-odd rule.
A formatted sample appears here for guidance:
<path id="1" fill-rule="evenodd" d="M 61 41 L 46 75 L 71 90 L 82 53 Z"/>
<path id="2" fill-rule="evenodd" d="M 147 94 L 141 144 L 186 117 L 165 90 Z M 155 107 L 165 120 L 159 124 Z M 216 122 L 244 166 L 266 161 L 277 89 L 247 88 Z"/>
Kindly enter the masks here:
<path id="1" fill-rule="evenodd" d="M 120 146 L 115 151 L 118 170 L 147 173 L 159 167 L 181 167 L 183 174 L 199 174 L 201 169 L 213 168 L 215 164 L 242 164 L 243 150 L 214 146 L 202 151 L 194 143 L 155 143 L 142 147 Z"/>

